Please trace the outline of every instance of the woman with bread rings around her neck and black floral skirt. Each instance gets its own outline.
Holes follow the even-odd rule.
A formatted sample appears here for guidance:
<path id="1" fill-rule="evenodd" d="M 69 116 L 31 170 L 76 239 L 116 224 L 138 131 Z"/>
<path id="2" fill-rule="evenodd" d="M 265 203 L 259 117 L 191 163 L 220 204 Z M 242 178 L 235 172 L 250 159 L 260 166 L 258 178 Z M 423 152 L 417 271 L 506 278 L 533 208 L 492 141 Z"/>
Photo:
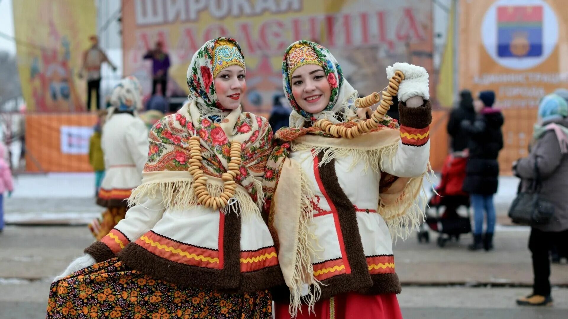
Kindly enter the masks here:
<path id="1" fill-rule="evenodd" d="M 150 132 L 134 206 L 52 284 L 48 317 L 272 317 L 266 289 L 283 279 L 260 212 L 272 130 L 241 112 L 236 41 L 203 45 L 187 84 L 190 102 Z"/>

